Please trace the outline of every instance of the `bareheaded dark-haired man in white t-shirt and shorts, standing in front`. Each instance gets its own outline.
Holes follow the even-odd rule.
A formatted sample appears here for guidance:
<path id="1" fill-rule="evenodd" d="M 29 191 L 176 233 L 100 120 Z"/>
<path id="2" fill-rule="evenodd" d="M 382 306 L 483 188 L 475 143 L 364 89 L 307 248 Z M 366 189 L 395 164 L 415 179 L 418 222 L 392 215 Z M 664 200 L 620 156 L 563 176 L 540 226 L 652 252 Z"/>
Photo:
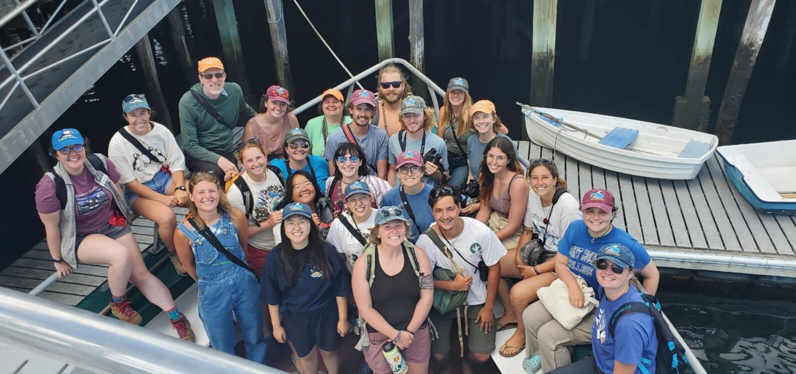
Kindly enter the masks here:
<path id="1" fill-rule="evenodd" d="M 459 311 L 463 313 L 466 310 L 466 316 L 462 318 L 466 318 L 468 324 L 467 347 L 470 351 L 462 360 L 462 372 L 470 373 L 471 365 L 485 363 L 495 348 L 497 329 L 494 328 L 494 302 L 497 282 L 500 280 L 500 258 L 506 250 L 489 226 L 473 218 L 459 216 L 460 203 L 460 195 L 450 186 L 438 185 L 432 189 L 428 204 L 431 205 L 435 224 L 431 228 L 439 240 L 423 234 L 416 245 L 426 251 L 432 268 L 443 267 L 457 272 L 451 281 L 435 279 L 435 290 L 468 291 L 467 307 Z M 455 266 L 451 259 L 456 263 Z M 482 261 L 489 267 L 486 282 L 478 274 L 477 266 Z M 458 273 L 457 268 L 464 274 Z M 451 328 L 457 322 L 458 313 L 454 310 L 439 314 L 432 308 L 428 315 L 439 332 L 439 339 L 431 341 L 431 354 L 438 368 L 450 372 L 448 352 L 451 350 Z"/>

